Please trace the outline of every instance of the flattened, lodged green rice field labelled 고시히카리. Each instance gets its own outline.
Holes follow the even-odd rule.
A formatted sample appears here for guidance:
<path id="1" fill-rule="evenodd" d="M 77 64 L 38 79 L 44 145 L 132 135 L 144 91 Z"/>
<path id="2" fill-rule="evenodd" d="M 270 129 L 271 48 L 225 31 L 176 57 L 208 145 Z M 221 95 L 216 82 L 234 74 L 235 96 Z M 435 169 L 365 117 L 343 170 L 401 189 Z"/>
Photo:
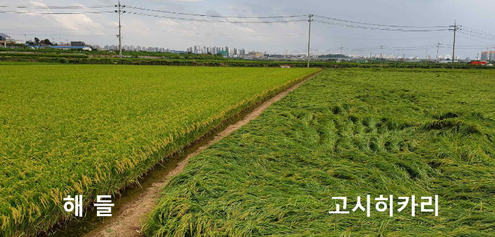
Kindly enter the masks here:
<path id="1" fill-rule="evenodd" d="M 198 156 L 150 236 L 494 236 L 495 72 L 326 70 Z M 332 197 L 394 195 L 330 215 Z M 439 217 L 397 197 L 439 195 Z M 421 202 L 421 200 L 416 200 Z M 342 204 L 342 202 L 340 202 Z M 363 202 L 365 205 L 365 201 Z"/>

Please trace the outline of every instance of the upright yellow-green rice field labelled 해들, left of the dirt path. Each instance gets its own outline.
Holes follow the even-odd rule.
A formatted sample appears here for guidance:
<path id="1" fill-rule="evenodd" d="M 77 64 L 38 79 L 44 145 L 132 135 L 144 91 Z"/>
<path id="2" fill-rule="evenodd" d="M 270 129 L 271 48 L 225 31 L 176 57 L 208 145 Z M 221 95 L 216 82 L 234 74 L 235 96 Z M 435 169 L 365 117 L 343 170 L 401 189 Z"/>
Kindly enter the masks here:
<path id="1" fill-rule="evenodd" d="M 72 218 L 317 69 L 0 65 L 0 236 Z"/>

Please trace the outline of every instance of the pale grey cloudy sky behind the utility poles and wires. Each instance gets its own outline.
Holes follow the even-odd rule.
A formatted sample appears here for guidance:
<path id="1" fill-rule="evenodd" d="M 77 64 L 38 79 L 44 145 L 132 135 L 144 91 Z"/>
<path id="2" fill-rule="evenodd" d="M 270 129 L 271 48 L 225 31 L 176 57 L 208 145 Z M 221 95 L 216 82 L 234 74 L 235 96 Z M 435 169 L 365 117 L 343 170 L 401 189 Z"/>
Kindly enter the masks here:
<path id="1" fill-rule="evenodd" d="M 8 6 L 102 6 L 114 5 L 110 0 L 0 0 L 0 5 Z M 485 31 L 495 35 L 493 24 L 495 1 L 492 0 L 353 0 L 353 1 L 296 1 L 296 0 L 122 0 L 125 6 L 165 10 L 176 13 L 199 15 L 221 15 L 234 17 L 273 17 L 303 15 L 303 17 L 277 19 L 234 19 L 206 18 L 188 15 L 174 15 L 132 8 L 122 15 L 121 24 L 123 44 L 140 45 L 142 47 L 164 47 L 185 50 L 194 45 L 236 47 L 246 50 L 266 51 L 270 53 L 307 51 L 308 17 L 319 15 L 344 19 L 353 22 L 401 26 L 451 26 L 457 24 Z M 0 8 L 0 11 L 17 10 L 36 13 L 79 13 L 89 11 L 115 10 L 115 8 L 92 9 L 31 9 Z M 197 22 L 183 19 L 167 19 L 148 17 L 132 13 L 145 13 L 169 17 L 195 19 L 213 19 L 220 21 L 284 21 L 291 19 L 305 20 L 272 24 L 229 23 L 229 22 Z M 322 20 L 320 18 L 320 20 Z M 119 33 L 117 13 L 80 15 L 38 15 L 0 13 L 0 33 L 27 40 L 54 39 L 55 42 L 84 41 L 86 44 L 119 44 L 116 35 Z M 5 24 L 6 23 L 6 24 Z M 376 26 L 381 27 L 381 26 Z M 382 27 L 383 28 L 383 27 Z M 441 43 L 440 55 L 452 54 L 453 33 L 451 31 L 403 32 L 379 31 L 365 28 L 350 28 L 312 22 L 312 53 L 340 53 L 340 47 L 363 49 L 351 51 L 344 49 L 345 54 L 394 54 L 406 57 L 426 54 L 436 56 L 437 48 L 433 44 Z M 464 31 L 466 32 L 466 31 Z M 26 34 L 26 36 L 24 36 Z M 494 37 L 495 38 L 495 37 Z M 446 45 L 447 44 L 447 45 Z M 376 49 L 383 45 L 386 49 Z M 475 58 L 481 51 L 495 50 L 495 40 L 478 38 L 464 33 L 457 33 L 456 56 L 462 59 Z M 427 46 L 429 47 L 426 52 Z M 399 48 L 423 47 L 415 50 L 399 50 Z M 394 48 L 394 49 L 390 49 Z M 473 49 L 469 49 L 473 48 Z M 482 49 L 484 48 L 484 49 Z M 366 50 L 365 50 L 366 49 Z"/>

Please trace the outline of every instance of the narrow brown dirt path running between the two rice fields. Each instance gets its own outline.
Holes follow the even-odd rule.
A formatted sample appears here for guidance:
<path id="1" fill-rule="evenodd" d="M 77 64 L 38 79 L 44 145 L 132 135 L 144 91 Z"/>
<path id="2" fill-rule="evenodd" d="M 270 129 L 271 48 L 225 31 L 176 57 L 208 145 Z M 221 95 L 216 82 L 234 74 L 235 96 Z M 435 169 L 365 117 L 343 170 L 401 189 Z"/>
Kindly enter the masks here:
<path id="1" fill-rule="evenodd" d="M 285 90 L 284 92 L 281 92 L 275 97 L 268 99 L 268 101 L 265 101 L 264 104 L 261 104 L 261 106 L 255 108 L 251 113 L 246 115 L 241 121 L 236 122 L 236 124 L 232 124 L 228 126 L 227 129 L 224 129 L 223 131 L 218 133 L 206 145 L 199 147 L 195 152 L 192 152 L 183 161 L 178 163 L 178 165 L 174 168 L 174 170 L 169 172 L 166 177 L 163 177 L 162 180 L 153 183 L 151 187 L 146 188 L 135 200 L 132 200 L 128 204 L 122 206 L 121 210 L 123 211 L 119 213 L 114 213 L 112 220 L 107 221 L 108 224 L 89 232 L 88 234 L 86 234 L 85 237 L 142 236 L 142 234 L 140 233 L 142 221 L 144 221 L 146 219 L 145 218 L 146 215 L 148 213 L 151 213 L 151 211 L 153 210 L 153 207 L 160 198 L 160 191 L 162 190 L 162 188 L 165 187 L 167 181 L 169 181 L 171 177 L 182 172 L 185 165 L 188 163 L 189 158 L 191 158 L 192 156 L 196 156 L 197 154 L 201 153 L 204 149 L 213 145 L 213 143 L 218 142 L 218 140 L 221 140 L 226 136 L 229 136 L 230 133 L 241 128 L 241 126 L 248 124 L 248 122 L 250 122 L 251 120 L 254 120 L 255 118 L 259 117 L 259 115 L 261 115 L 261 113 L 263 113 L 263 111 L 265 111 L 266 108 L 268 108 L 268 106 L 271 106 L 271 104 L 279 101 L 289 92 L 298 88 L 300 85 L 312 79 L 314 76 L 317 76 L 318 74 L 319 73 L 313 74 L 307 79 Z"/>

